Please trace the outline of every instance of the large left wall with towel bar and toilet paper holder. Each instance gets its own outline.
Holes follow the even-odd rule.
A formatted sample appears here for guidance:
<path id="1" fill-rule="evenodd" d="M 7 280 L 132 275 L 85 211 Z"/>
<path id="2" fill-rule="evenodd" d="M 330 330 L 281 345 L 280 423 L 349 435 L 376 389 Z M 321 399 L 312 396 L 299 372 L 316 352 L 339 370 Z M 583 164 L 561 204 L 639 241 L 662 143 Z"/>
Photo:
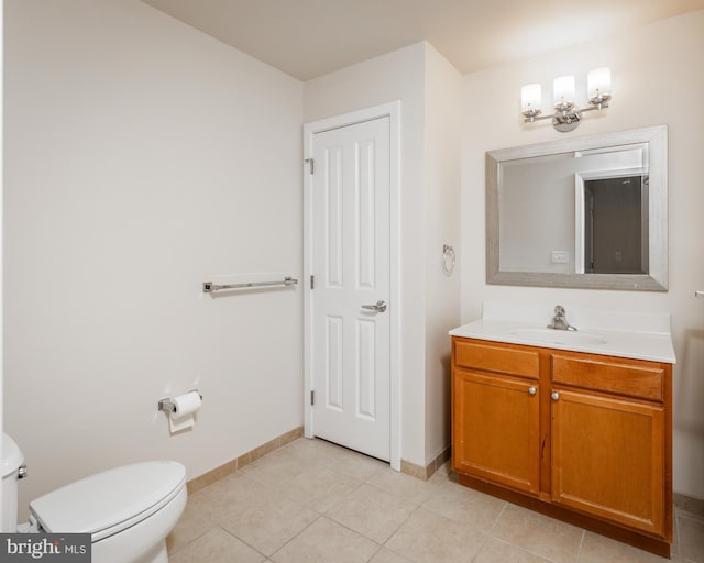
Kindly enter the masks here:
<path id="1" fill-rule="evenodd" d="M 188 478 L 302 423 L 302 85 L 136 0 L 6 2 L 4 430 L 20 506 L 143 459 Z M 198 387 L 193 432 L 160 398 Z"/>

